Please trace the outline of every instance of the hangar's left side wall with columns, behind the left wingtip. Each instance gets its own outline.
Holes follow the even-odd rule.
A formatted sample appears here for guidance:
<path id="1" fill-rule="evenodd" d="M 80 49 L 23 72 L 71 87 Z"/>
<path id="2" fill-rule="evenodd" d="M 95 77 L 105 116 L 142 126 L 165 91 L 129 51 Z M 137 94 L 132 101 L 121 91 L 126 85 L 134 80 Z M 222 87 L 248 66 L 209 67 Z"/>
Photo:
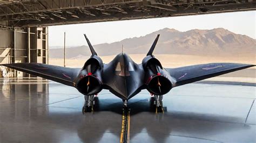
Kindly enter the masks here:
<path id="1" fill-rule="evenodd" d="M 48 27 L 0 29 L 0 63 L 19 62 L 48 63 Z M 7 70 L 10 77 L 29 76 Z"/>

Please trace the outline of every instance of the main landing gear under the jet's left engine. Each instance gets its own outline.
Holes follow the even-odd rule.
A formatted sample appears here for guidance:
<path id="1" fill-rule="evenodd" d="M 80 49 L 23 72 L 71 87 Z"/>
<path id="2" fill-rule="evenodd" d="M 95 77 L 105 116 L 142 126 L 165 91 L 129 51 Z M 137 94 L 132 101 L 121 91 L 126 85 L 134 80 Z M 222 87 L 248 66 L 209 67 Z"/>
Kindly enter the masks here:
<path id="1" fill-rule="evenodd" d="M 95 95 L 85 95 L 84 96 L 85 102 L 82 109 L 82 112 L 93 112 L 95 110 L 95 104 L 98 102 L 98 97 Z"/>

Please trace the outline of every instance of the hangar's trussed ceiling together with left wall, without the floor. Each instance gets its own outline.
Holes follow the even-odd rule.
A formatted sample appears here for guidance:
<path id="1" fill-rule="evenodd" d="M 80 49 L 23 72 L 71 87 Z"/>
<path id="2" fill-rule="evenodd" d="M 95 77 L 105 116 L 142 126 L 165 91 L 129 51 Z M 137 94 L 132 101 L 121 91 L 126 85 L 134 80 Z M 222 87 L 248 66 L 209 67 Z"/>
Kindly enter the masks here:
<path id="1" fill-rule="evenodd" d="M 0 1 L 0 62 L 48 63 L 48 26 L 51 25 L 255 9 L 255 0 Z M 11 70 L 5 71 L 5 75 L 29 76 Z"/>

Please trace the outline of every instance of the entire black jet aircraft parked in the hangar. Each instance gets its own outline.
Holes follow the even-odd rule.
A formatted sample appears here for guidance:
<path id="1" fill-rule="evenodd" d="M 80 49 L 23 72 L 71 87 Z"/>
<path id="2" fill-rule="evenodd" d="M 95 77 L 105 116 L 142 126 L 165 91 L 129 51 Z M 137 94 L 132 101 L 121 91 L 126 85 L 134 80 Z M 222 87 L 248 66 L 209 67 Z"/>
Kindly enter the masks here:
<path id="1" fill-rule="evenodd" d="M 84 112 L 93 111 L 95 95 L 102 89 L 127 101 L 141 90 L 147 89 L 153 95 L 156 111 L 163 111 L 163 95 L 180 85 L 230 73 L 255 65 L 241 63 L 208 63 L 179 68 L 163 68 L 153 55 L 159 34 L 141 64 L 135 63 L 129 55 L 118 54 L 110 63 L 104 64 L 84 34 L 91 51 L 91 57 L 83 68 L 66 68 L 42 63 L 4 64 L 12 69 L 75 87 L 84 95 Z"/>

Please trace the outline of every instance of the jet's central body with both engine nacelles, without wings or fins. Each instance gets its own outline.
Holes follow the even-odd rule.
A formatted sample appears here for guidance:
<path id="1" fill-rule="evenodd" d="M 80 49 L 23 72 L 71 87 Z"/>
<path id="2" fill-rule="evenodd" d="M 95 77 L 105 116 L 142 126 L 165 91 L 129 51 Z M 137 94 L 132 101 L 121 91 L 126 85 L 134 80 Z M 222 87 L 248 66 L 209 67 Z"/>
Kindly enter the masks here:
<path id="1" fill-rule="evenodd" d="M 154 95 L 166 94 L 175 83 L 175 79 L 161 67 L 160 62 L 153 55 L 146 56 L 139 65 L 125 53 L 118 54 L 110 63 L 102 66 L 100 66 L 102 60 L 98 56 L 92 56 L 92 59 L 95 59 L 96 63 L 86 62 L 76 81 L 77 89 L 85 95 L 93 95 L 102 89 L 109 89 L 114 95 L 127 100 L 145 88 Z M 92 65 L 98 66 L 92 68 Z M 97 84 L 89 84 L 87 89 L 90 80 Z M 160 86 L 158 81 L 165 86 Z M 102 83 L 106 84 L 102 85 Z"/>

